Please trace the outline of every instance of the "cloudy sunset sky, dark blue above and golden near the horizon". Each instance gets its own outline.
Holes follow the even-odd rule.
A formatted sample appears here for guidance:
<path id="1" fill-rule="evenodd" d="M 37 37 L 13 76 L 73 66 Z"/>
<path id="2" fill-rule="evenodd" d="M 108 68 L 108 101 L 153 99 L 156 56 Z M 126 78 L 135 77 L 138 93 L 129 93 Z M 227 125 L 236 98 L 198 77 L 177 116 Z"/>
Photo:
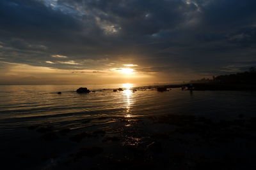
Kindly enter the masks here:
<path id="1" fill-rule="evenodd" d="M 1 0 L 0 84 L 175 83 L 256 66 L 255 0 Z"/>

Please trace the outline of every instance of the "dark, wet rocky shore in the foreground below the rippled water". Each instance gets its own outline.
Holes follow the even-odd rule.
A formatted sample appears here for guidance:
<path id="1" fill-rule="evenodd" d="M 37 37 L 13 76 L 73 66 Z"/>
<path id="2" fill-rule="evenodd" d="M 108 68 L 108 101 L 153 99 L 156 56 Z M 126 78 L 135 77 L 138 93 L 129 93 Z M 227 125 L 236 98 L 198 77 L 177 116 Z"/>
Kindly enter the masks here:
<path id="1" fill-rule="evenodd" d="M 5 163 L 9 167 L 24 169 L 255 167 L 251 157 L 256 151 L 255 117 L 237 115 L 234 120 L 217 122 L 172 114 L 103 119 L 112 123 L 88 127 L 90 120 L 84 120 L 80 129 L 58 129 L 47 124 L 24 127 L 24 134 L 31 139 L 21 143 L 19 150 L 5 149 L 2 160 L 8 159 Z M 31 161 L 29 168 L 26 163 Z"/>

